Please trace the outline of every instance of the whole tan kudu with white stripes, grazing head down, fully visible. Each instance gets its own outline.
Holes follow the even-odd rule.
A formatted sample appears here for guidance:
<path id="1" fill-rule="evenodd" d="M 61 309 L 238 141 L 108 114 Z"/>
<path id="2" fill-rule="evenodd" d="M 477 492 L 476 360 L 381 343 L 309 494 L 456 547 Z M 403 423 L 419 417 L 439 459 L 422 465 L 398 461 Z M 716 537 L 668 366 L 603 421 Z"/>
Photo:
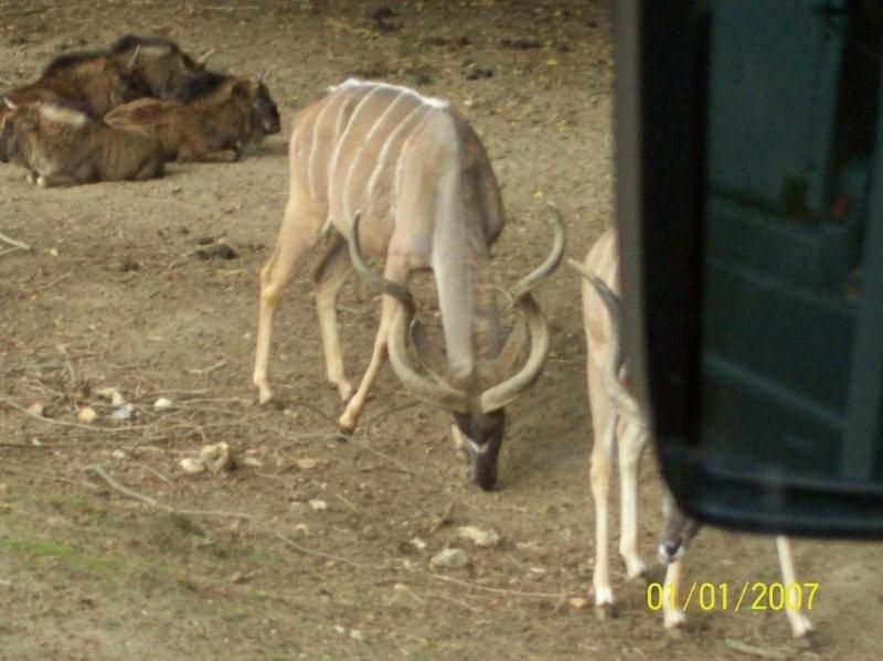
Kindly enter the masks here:
<path id="1" fill-rule="evenodd" d="M 503 227 L 497 178 L 478 136 L 447 103 L 412 89 L 350 79 L 301 110 L 289 145 L 288 206 L 273 255 L 260 271 L 260 312 L 254 384 L 269 401 L 270 329 L 287 282 L 325 230 L 336 236 L 316 274 L 316 305 L 329 381 L 348 402 L 339 426 L 352 431 L 369 388 L 389 352 L 415 395 L 454 414 L 455 439 L 465 438 L 476 482 L 491 488 L 502 440 L 503 407 L 530 386 L 545 362 L 549 333 L 530 288 L 557 266 L 564 249 L 561 218 L 550 258 L 525 278 L 515 297 L 528 321 L 531 352 L 512 374 L 526 343 L 523 327 L 501 342 L 490 281 L 489 247 Z M 360 245 L 353 242 L 357 210 Z M 368 371 L 353 393 L 343 371 L 334 300 L 351 270 L 386 258 L 380 327 Z M 432 269 L 438 291 L 447 375 L 430 380 L 408 358 L 405 335 L 413 307 L 408 275 Z M 382 284 L 382 282 L 381 282 Z M 397 295 L 397 296 L 396 296 Z M 415 327 L 418 331 L 418 327 Z M 425 349 L 419 341 L 418 350 Z M 423 359 L 428 361 L 429 356 Z"/>

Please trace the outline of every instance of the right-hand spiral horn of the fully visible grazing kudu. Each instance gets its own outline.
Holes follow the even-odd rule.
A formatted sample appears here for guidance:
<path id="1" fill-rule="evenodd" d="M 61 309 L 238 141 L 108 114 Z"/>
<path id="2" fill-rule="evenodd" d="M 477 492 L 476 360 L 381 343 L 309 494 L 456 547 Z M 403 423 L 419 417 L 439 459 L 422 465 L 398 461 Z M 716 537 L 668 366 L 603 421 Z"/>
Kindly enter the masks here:
<path id="1" fill-rule="evenodd" d="M 543 313 L 540 311 L 540 306 L 536 305 L 533 296 L 531 296 L 531 289 L 554 271 L 564 256 L 564 221 L 557 209 L 554 206 L 551 206 L 551 209 L 554 213 L 555 222 L 555 239 L 552 244 L 552 250 L 545 262 L 515 285 L 513 294 L 515 306 L 528 322 L 531 338 L 530 355 L 519 372 L 481 393 L 479 406 L 482 413 L 498 411 L 515 399 L 540 377 L 545 365 L 545 359 L 549 355 L 549 328 Z"/>

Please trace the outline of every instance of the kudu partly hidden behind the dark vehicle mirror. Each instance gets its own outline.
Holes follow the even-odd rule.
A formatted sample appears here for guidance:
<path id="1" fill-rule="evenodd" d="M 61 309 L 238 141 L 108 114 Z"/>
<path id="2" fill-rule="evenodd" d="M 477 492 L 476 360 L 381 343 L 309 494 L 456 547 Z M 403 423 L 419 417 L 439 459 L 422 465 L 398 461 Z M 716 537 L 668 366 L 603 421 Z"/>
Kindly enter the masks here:
<path id="1" fill-rule="evenodd" d="M 629 578 L 646 573 L 647 566 L 638 552 L 638 469 L 647 447 L 649 428 L 641 405 L 630 392 L 619 334 L 619 245 L 616 231 L 607 230 L 589 249 L 583 265 L 583 323 L 587 350 L 588 401 L 592 409 L 594 444 L 592 448 L 592 495 L 595 500 L 595 606 L 604 617 L 614 606 L 608 563 L 608 501 L 610 494 L 610 467 L 614 454 L 619 458 L 619 489 L 621 497 L 619 553 L 626 562 Z M 663 497 L 666 524 L 660 558 L 668 564 L 663 591 L 683 595 L 680 589 L 682 559 L 685 544 L 699 525 L 684 516 L 670 495 Z M 776 537 L 781 565 L 783 583 L 794 583 L 795 569 L 790 543 L 787 537 Z M 680 601 L 680 598 L 678 598 Z M 667 628 L 685 621 L 683 610 L 670 599 L 663 599 Z M 809 619 L 800 611 L 786 609 L 795 638 L 812 630 Z"/>

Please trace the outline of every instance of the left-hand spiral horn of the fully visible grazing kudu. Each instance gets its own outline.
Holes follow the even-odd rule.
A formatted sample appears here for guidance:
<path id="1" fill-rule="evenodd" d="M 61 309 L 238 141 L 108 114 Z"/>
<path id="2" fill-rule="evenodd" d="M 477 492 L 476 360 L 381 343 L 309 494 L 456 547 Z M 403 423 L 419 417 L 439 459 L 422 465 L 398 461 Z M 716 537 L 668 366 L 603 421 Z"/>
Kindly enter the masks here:
<path id="1" fill-rule="evenodd" d="M 402 303 L 401 308 L 395 312 L 387 344 L 390 364 L 393 371 L 396 376 L 398 376 L 402 385 L 427 404 L 456 413 L 467 413 L 469 411 L 469 397 L 465 392 L 454 388 L 446 383 L 434 383 L 419 374 L 412 365 L 407 352 L 407 335 L 408 326 L 414 319 L 414 313 L 416 311 L 414 297 L 411 295 L 407 287 L 398 285 L 397 282 L 390 282 L 368 266 L 362 256 L 362 247 L 359 242 L 360 220 L 361 213 L 355 212 L 355 216 L 352 221 L 352 236 L 349 242 L 350 259 L 352 260 L 353 268 L 368 282 Z"/>

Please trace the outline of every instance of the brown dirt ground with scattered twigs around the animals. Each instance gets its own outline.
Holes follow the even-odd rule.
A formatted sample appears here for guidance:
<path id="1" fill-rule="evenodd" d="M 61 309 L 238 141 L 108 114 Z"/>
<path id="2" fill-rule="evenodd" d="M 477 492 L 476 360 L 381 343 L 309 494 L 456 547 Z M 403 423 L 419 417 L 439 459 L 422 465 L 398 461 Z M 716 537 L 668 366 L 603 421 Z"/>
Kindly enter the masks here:
<path id="1" fill-rule="evenodd" d="M 418 85 L 453 100 L 487 145 L 509 213 L 497 274 L 511 286 L 550 247 L 542 202 L 564 211 L 570 256 L 609 223 L 610 6 L 0 1 L 0 78 L 22 84 L 62 50 L 137 32 L 217 47 L 219 68 L 273 66 L 288 116 L 351 75 Z M 392 12 L 375 13 L 383 7 Z M 469 75 L 483 70 L 492 75 Z M 768 658 L 880 657 L 871 545 L 796 543 L 800 576 L 820 584 L 810 650 L 770 611 L 694 610 L 687 635 L 670 638 L 616 556 L 619 617 L 598 621 L 570 603 L 588 596 L 594 515 L 578 282 L 565 269 L 539 292 L 551 359 L 511 407 L 493 493 L 466 480 L 446 416 L 389 367 L 355 436 L 334 440 L 340 405 L 310 269 L 275 327 L 285 404 L 256 406 L 257 273 L 286 201 L 287 132 L 242 162 L 173 166 L 147 183 L 39 190 L 0 167 L 0 232 L 33 246 L 0 256 L 0 658 L 741 658 L 734 641 Z M 193 254 L 219 239 L 235 258 Z M 377 297 L 351 277 L 339 302 L 357 380 Z M 108 418 L 103 387 L 136 405 L 131 422 Z M 156 412 L 160 396 L 173 407 Z M 35 403 L 49 419 L 22 411 Z M 78 427 L 85 405 L 99 418 Z M 180 470 L 219 441 L 236 470 Z M 96 463 L 153 504 L 84 471 Z M 641 494 L 652 559 L 650 461 Z M 462 525 L 492 527 L 500 543 L 475 547 L 458 539 Z M 468 565 L 430 567 L 445 547 Z M 778 578 L 763 537 L 705 531 L 689 564 L 691 579 L 715 584 Z"/>

